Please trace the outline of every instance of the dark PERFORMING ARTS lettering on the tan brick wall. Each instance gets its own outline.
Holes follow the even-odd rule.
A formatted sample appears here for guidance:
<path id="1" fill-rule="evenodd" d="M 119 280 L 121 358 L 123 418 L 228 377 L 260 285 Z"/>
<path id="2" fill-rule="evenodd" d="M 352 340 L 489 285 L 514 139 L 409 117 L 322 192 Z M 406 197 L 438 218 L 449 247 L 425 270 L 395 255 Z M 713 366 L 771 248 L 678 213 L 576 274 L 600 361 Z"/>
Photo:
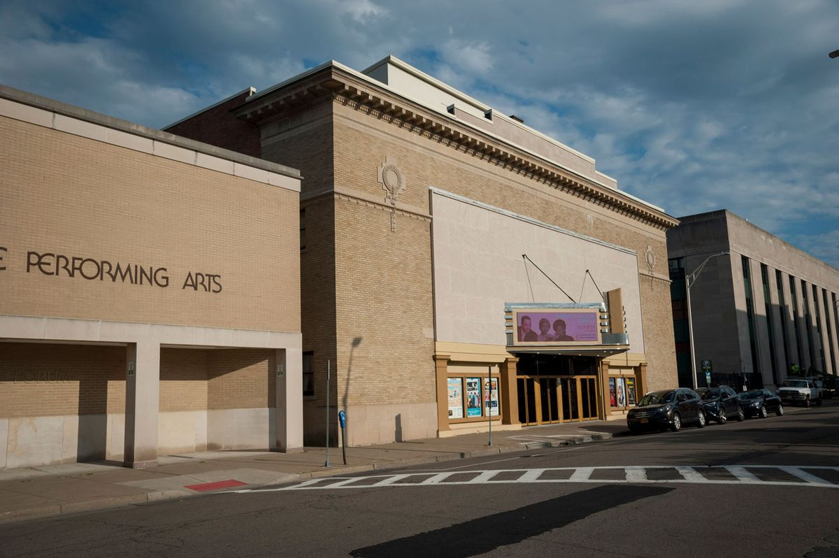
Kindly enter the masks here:
<path id="1" fill-rule="evenodd" d="M 8 248 L 0 247 L 0 271 L 13 266 L 8 255 Z M 105 281 L 112 283 L 149 285 L 167 289 L 169 285 L 180 286 L 182 290 L 194 290 L 211 294 L 221 293 L 221 274 L 209 274 L 187 270 L 185 275 L 170 281 L 169 269 L 155 265 L 139 263 L 111 262 L 107 259 L 82 258 L 61 253 L 34 252 L 26 253 L 25 269 L 28 274 L 44 274 L 70 279 Z"/>

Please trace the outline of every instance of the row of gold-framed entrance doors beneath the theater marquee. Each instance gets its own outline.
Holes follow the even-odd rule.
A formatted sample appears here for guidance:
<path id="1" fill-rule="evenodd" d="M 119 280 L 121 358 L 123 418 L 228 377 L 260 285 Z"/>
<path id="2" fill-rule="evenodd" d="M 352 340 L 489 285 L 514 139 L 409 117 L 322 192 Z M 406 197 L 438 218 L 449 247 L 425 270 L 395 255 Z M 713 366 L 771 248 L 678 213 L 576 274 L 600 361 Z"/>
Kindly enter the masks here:
<path id="1" fill-rule="evenodd" d="M 519 376 L 517 384 L 519 422 L 523 425 L 596 420 L 599 416 L 595 376 Z"/>

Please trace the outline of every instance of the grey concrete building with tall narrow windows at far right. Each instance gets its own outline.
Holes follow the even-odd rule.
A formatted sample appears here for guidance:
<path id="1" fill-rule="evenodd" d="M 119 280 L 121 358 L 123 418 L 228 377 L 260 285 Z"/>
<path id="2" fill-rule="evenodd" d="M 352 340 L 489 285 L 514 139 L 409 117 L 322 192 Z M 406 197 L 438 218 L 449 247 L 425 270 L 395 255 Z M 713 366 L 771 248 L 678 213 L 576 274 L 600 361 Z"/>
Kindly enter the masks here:
<path id="1" fill-rule="evenodd" d="M 699 386 L 703 362 L 711 383 L 750 388 L 774 388 L 793 365 L 836 375 L 839 269 L 730 211 L 680 221 L 667 248 L 681 385 L 693 381 L 685 275 L 709 257 L 690 288 Z"/>

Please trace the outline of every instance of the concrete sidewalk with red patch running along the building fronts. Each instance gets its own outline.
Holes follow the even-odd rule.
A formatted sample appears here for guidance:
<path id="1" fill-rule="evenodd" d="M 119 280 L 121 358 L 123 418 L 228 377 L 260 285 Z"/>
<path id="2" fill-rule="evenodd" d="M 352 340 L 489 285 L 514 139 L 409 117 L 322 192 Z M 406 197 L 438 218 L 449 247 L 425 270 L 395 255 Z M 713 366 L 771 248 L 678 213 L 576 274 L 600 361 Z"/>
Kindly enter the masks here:
<path id="1" fill-rule="evenodd" d="M 23 519 L 75 514 L 145 502 L 190 498 L 230 488 L 253 488 L 487 456 L 533 448 L 568 446 L 628 433 L 623 420 L 545 425 L 450 438 L 430 438 L 296 453 L 272 451 L 201 451 L 160 456 L 158 467 L 128 469 L 112 462 L 71 463 L 0 471 L 0 524 Z"/>

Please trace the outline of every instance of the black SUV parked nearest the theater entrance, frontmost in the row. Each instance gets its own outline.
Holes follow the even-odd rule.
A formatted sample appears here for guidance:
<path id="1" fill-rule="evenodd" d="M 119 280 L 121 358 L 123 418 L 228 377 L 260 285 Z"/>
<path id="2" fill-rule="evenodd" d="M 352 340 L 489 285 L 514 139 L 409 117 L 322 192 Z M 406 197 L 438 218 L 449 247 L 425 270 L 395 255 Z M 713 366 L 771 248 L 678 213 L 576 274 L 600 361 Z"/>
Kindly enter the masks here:
<path id="1" fill-rule="evenodd" d="M 699 394 L 685 388 L 651 391 L 627 414 L 627 425 L 633 432 L 667 428 L 677 432 L 689 424 L 702 428 L 706 420 Z"/>

